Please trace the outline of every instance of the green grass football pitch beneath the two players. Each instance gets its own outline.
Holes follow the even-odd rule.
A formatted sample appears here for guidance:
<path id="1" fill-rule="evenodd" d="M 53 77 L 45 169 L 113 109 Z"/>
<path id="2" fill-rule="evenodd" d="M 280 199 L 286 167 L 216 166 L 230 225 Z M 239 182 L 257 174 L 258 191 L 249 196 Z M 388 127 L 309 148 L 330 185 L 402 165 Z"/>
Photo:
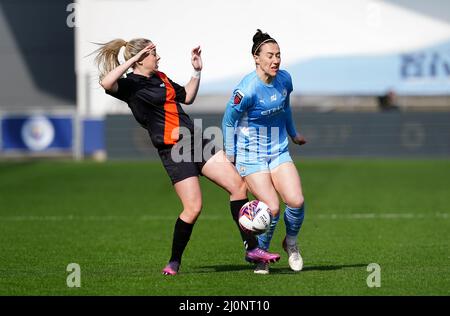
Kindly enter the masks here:
<path id="1" fill-rule="evenodd" d="M 0 295 L 449 295 L 450 161 L 297 162 L 305 267 L 255 275 L 228 196 L 202 179 L 203 212 L 175 277 L 161 275 L 180 203 L 159 162 L 0 164 Z M 69 288 L 69 263 L 81 287 Z M 367 266 L 381 267 L 369 288 Z"/>

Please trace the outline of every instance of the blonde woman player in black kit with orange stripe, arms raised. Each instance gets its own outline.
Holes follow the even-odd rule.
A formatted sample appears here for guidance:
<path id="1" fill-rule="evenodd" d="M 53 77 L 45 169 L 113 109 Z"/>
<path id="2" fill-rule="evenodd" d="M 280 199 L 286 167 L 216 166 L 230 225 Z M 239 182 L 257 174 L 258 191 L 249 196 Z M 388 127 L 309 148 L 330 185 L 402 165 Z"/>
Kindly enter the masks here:
<path id="1" fill-rule="evenodd" d="M 120 64 L 118 55 L 122 47 L 125 48 L 125 62 Z M 200 84 L 200 47 L 194 48 L 191 55 L 194 73 L 184 87 L 158 71 L 160 57 L 156 53 L 156 46 L 148 39 L 136 38 L 128 42 L 122 39 L 112 40 L 102 44 L 96 57 L 100 69 L 100 85 L 107 94 L 126 102 L 136 121 L 148 131 L 183 205 L 175 223 L 172 254 L 162 271 L 165 275 L 178 273 L 183 251 L 200 215 L 202 194 L 199 175 L 206 176 L 230 194 L 231 213 L 236 223 L 240 208 L 248 201 L 244 181 L 222 150 L 213 149 L 212 157 L 202 157 L 201 161 L 195 161 L 194 146 L 190 146 L 192 159 L 181 162 L 173 159 L 172 149 L 178 151 L 180 148 L 177 147 L 186 143 L 186 139 L 183 139 L 185 135 L 181 135 L 180 129 L 188 129 L 194 135 L 194 124 L 180 106 L 180 103 L 194 102 Z M 132 72 L 124 78 L 123 75 L 129 68 L 132 68 Z M 193 138 L 187 141 L 194 144 Z M 205 146 L 214 148 L 210 141 L 202 140 L 202 149 Z M 242 230 L 240 232 L 246 245 L 247 261 L 259 263 L 279 260 L 278 254 L 260 249 L 254 236 Z"/>

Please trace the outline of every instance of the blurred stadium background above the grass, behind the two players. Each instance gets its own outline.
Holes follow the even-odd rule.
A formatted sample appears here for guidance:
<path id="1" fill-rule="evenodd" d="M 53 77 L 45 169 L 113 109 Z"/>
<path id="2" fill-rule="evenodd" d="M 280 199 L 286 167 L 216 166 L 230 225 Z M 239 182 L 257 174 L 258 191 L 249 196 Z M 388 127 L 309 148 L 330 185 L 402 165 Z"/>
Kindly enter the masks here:
<path id="1" fill-rule="evenodd" d="M 93 43 L 116 37 L 152 39 L 161 70 L 181 84 L 202 45 L 202 85 L 186 110 L 220 126 L 254 68 L 256 28 L 279 41 L 293 77 L 291 103 L 310 140 L 302 155 L 450 155 L 448 1 L 282 1 L 269 16 L 253 13 L 268 1 L 0 3 L 2 158 L 156 158 L 127 106 L 98 85 Z M 381 106 L 390 91 L 395 111 Z"/>

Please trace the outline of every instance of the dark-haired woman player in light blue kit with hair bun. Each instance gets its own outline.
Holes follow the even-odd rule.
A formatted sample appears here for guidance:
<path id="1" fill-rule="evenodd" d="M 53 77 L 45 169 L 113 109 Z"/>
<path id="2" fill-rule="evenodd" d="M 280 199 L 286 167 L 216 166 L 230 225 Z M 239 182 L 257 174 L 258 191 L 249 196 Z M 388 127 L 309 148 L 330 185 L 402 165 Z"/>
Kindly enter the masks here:
<path id="1" fill-rule="evenodd" d="M 288 136 L 297 145 L 306 143 L 292 120 L 289 96 L 292 79 L 280 70 L 280 48 L 267 33 L 257 30 L 252 54 L 256 70 L 244 77 L 227 104 L 222 121 L 224 147 L 249 190 L 266 203 L 274 217 L 269 230 L 258 236 L 267 250 L 279 219 L 280 195 L 286 204 L 286 237 L 283 248 L 294 271 L 303 268 L 297 236 L 304 218 L 300 176 L 288 151 Z M 258 263 L 255 273 L 268 274 L 269 264 Z"/>

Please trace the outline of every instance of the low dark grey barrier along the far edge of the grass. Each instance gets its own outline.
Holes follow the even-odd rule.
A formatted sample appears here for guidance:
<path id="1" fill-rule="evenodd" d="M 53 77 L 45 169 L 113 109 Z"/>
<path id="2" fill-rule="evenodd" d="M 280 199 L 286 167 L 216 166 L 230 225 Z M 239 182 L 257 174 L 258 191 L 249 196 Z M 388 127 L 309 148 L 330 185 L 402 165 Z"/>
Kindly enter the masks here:
<path id="1" fill-rule="evenodd" d="M 221 114 L 192 114 L 203 128 L 220 126 Z M 291 144 L 301 157 L 450 158 L 450 112 L 297 113 L 297 128 L 309 143 Z M 132 116 L 106 119 L 110 159 L 157 159 L 146 131 Z"/>

